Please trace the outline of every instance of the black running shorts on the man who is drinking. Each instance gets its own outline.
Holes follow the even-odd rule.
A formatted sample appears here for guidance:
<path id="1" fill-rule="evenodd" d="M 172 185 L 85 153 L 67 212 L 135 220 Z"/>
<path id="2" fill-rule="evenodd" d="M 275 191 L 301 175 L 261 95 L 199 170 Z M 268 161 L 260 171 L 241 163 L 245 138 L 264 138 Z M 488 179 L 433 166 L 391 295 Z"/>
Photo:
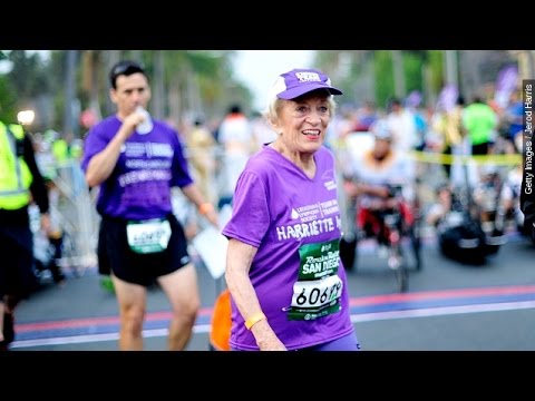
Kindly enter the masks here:
<path id="1" fill-rule="evenodd" d="M 98 235 L 98 271 L 114 273 L 128 283 L 148 286 L 165 274 L 173 273 L 191 262 L 184 229 L 173 214 L 167 216 L 171 238 L 165 251 L 139 254 L 128 245 L 126 225 L 121 218 L 103 216 Z"/>

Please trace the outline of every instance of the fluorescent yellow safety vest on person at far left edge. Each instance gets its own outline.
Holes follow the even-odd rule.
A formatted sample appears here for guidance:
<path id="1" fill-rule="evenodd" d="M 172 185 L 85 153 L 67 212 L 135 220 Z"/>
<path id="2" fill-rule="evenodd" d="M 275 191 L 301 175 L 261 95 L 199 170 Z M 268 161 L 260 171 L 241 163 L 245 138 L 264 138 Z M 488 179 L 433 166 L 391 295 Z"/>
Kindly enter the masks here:
<path id="1" fill-rule="evenodd" d="M 17 157 L 17 141 L 23 140 L 20 125 L 10 124 L 9 131 L 0 121 L 0 208 L 18 209 L 30 203 L 33 179 L 23 156 Z"/>

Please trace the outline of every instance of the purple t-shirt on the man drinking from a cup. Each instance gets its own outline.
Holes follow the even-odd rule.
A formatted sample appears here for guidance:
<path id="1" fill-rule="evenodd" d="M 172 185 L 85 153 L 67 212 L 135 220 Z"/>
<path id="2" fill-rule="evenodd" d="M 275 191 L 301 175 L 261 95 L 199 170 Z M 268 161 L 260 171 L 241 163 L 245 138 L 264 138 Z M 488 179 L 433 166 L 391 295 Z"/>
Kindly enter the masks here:
<path id="1" fill-rule="evenodd" d="M 84 170 L 121 124 L 114 115 L 89 130 L 84 144 Z M 149 134 L 135 131 L 124 144 L 111 175 L 100 185 L 97 211 L 101 215 L 135 221 L 160 218 L 172 212 L 171 187 L 191 183 L 178 133 L 155 120 Z"/>

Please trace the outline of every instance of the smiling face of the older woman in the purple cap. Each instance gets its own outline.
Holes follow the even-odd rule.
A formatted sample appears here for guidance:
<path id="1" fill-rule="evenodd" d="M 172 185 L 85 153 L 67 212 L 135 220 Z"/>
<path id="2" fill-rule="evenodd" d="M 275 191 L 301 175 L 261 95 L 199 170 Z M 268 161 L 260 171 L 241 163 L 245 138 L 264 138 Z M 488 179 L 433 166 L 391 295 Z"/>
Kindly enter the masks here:
<path id="1" fill-rule="evenodd" d="M 292 153 L 314 153 L 323 144 L 331 119 L 328 92 L 315 91 L 293 100 L 283 100 L 275 131 Z"/>

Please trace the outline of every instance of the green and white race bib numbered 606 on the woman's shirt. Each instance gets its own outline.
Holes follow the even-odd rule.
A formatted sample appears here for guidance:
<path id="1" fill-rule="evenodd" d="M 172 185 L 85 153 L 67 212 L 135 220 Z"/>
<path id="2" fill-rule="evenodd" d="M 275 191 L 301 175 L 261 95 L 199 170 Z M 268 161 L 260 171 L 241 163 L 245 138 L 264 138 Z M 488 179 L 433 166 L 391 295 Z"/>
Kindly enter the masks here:
<path id="1" fill-rule="evenodd" d="M 302 245 L 299 254 L 299 278 L 293 284 L 288 319 L 315 320 L 340 311 L 340 239 Z"/>

